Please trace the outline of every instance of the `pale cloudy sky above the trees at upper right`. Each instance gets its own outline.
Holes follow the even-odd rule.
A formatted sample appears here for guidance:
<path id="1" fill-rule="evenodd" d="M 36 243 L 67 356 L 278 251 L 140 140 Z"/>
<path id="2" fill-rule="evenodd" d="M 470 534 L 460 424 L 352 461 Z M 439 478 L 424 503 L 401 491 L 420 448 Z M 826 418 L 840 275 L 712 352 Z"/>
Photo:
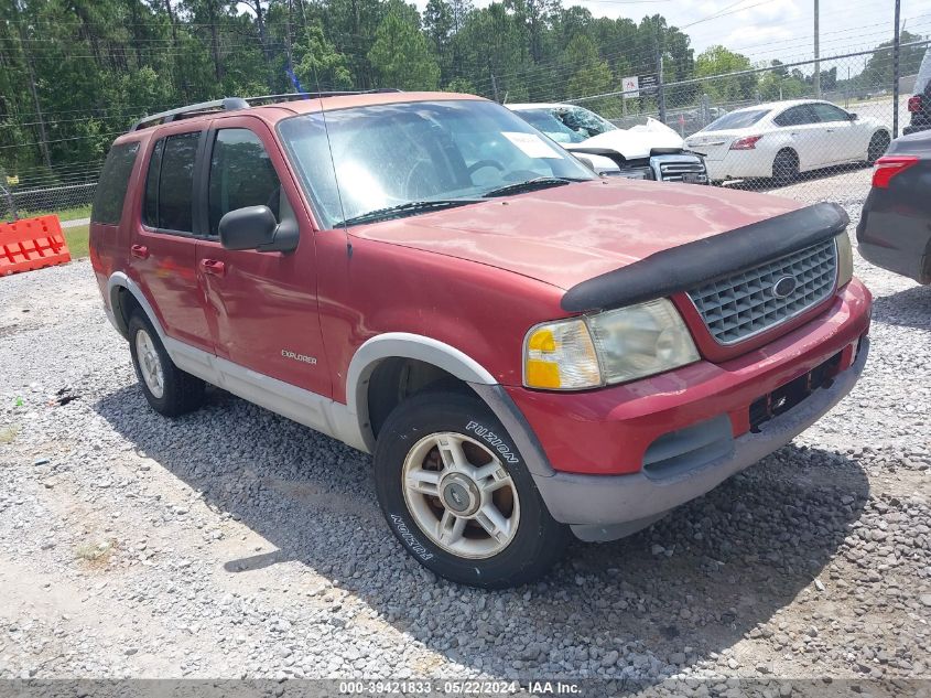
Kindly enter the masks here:
<path id="1" fill-rule="evenodd" d="M 477 7 L 490 0 L 477 0 Z M 423 10 L 426 0 L 418 0 Z M 783 63 L 813 55 L 814 0 L 563 0 L 595 17 L 640 21 L 659 13 L 692 39 L 697 55 L 713 44 L 757 61 Z M 820 0 L 821 55 L 872 49 L 892 39 L 894 0 Z M 907 30 L 931 35 L 931 0 L 901 0 Z"/>

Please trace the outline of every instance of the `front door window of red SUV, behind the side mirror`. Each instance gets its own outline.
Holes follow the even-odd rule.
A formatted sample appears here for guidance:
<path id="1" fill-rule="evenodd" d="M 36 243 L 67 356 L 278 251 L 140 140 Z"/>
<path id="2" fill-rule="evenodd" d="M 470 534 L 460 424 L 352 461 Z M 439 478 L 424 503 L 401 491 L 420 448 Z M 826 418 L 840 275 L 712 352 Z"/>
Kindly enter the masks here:
<path id="1" fill-rule="evenodd" d="M 220 218 L 246 206 L 268 206 L 281 219 L 281 182 L 262 141 L 249 129 L 217 131 L 210 157 L 210 235 Z"/>

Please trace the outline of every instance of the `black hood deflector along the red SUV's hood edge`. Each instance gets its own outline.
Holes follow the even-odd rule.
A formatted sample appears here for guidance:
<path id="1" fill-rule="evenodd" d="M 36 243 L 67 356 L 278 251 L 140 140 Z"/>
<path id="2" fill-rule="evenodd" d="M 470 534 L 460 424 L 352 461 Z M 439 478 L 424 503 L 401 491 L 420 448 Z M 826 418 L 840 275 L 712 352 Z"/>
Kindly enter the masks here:
<path id="1" fill-rule="evenodd" d="M 664 298 L 791 255 L 843 233 L 851 222 L 837 204 L 821 203 L 645 257 L 573 286 L 566 312 L 618 308 Z"/>

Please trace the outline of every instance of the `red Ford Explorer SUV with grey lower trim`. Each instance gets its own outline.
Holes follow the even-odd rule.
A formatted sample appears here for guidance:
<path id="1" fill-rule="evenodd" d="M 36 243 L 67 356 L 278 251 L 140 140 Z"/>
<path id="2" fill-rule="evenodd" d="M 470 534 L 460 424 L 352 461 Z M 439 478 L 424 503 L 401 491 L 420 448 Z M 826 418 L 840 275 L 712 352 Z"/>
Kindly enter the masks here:
<path id="1" fill-rule="evenodd" d="M 374 453 L 448 579 L 543 573 L 788 442 L 846 395 L 870 294 L 847 216 L 600 179 L 467 95 L 240 99 L 117 139 L 91 256 L 149 404 L 205 383 Z"/>

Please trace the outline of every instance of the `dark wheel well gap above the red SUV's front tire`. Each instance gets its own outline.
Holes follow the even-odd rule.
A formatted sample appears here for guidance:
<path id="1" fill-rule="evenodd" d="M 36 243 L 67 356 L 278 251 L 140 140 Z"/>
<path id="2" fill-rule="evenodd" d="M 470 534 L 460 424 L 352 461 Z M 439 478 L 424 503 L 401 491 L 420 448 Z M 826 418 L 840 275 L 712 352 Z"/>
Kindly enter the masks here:
<path id="1" fill-rule="evenodd" d="M 426 387 L 470 393 L 468 384 L 442 368 L 416 358 L 392 357 L 378 363 L 368 380 L 368 419 L 377 439 L 385 420 L 402 400 Z"/>

